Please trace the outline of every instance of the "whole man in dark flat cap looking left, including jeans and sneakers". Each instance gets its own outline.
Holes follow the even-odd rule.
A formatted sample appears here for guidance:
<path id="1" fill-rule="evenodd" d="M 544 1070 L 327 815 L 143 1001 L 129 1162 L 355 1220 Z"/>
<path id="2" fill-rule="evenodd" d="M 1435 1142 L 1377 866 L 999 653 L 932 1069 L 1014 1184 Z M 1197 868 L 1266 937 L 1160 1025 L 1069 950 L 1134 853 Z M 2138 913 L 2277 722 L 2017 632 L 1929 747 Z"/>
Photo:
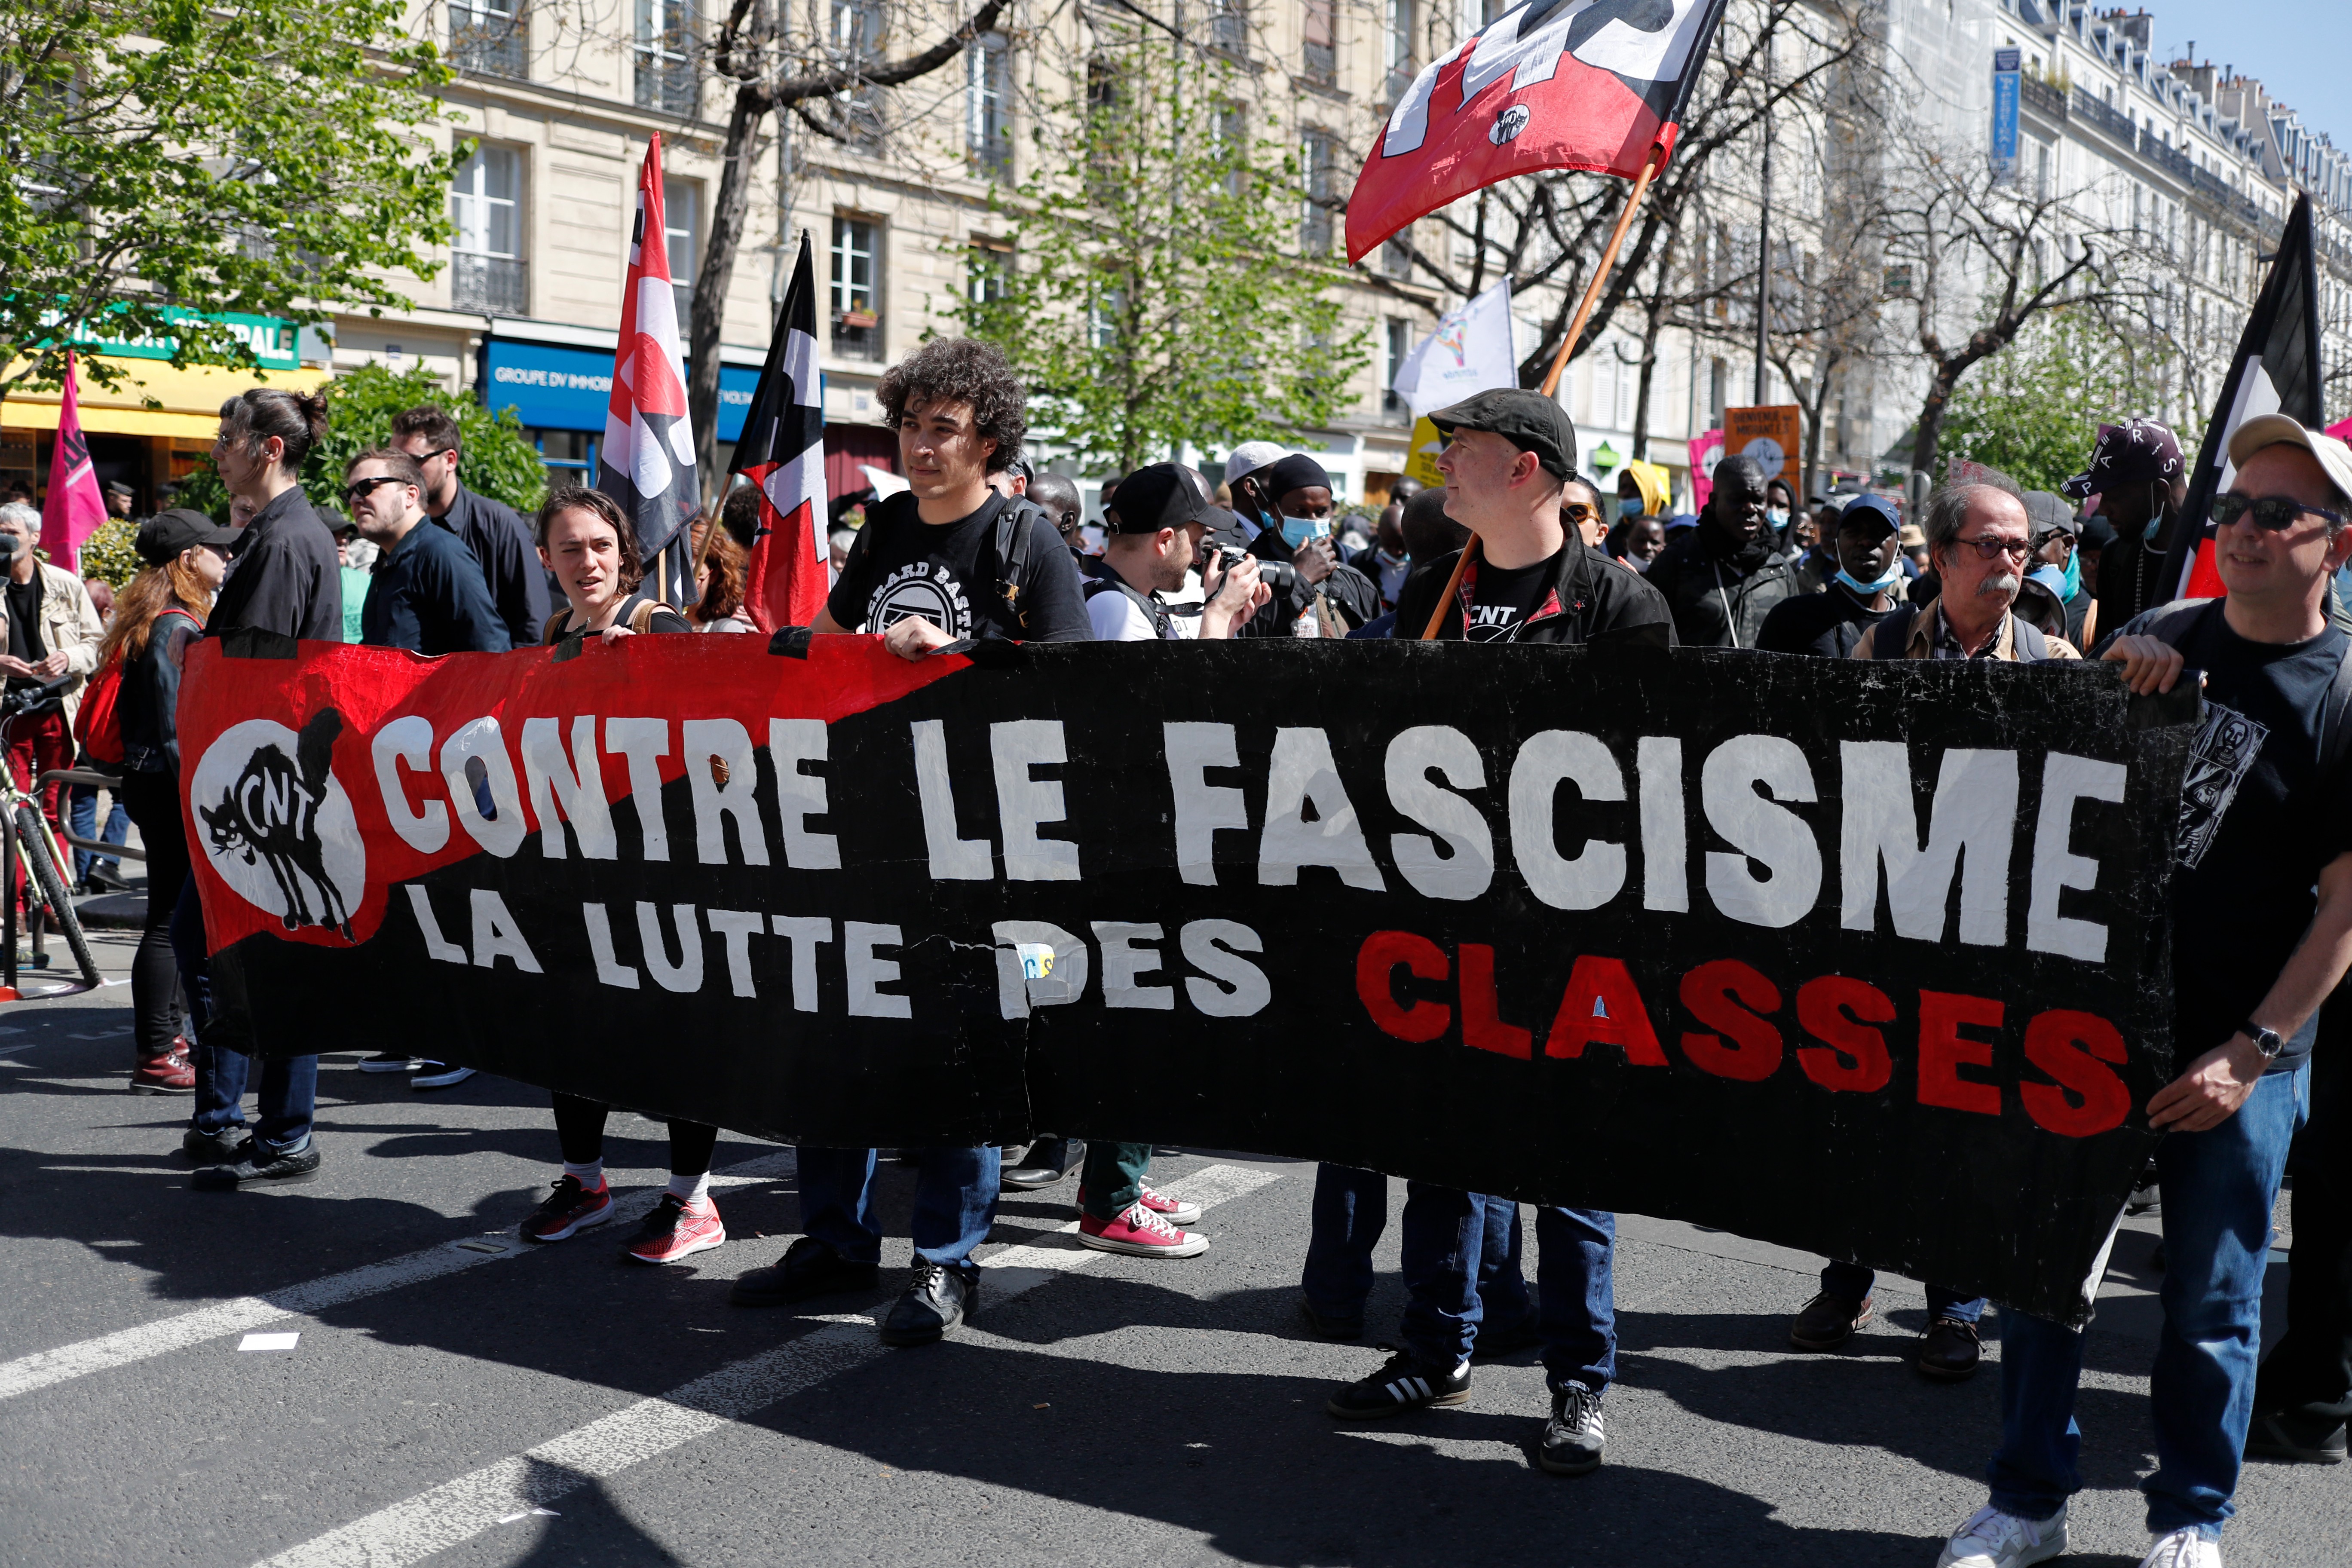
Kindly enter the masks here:
<path id="1" fill-rule="evenodd" d="M 1446 437 L 1437 473 L 1446 515 L 1472 531 L 1461 585 L 1444 602 L 1463 550 L 1416 562 L 1397 602 L 1397 635 L 1418 637 L 1444 602 L 1442 637 L 1472 642 L 1618 642 L 1670 646 L 1665 602 L 1637 574 L 1571 536 L 1559 491 L 1576 475 L 1576 425 L 1557 402 L 1517 388 L 1479 393 L 1430 416 Z M 1336 1173 L 1334 1197 L 1345 1187 Z M 1324 1213 L 1317 1180 L 1317 1211 Z M 1404 1199 L 1404 1349 L 1381 1371 L 1331 1394 L 1341 1420 L 1376 1420 L 1470 1399 L 1470 1356 L 1526 1331 L 1515 1267 L 1489 1267 L 1489 1246 L 1517 1237 L 1517 1204 L 1479 1192 L 1411 1182 Z M 1616 1375 L 1611 1262 L 1616 1215 L 1538 1208 L 1538 1305 L 1552 1418 L 1538 1465 L 1581 1476 L 1602 1462 L 1602 1394 Z M 1512 1248 L 1515 1251 L 1515 1248 Z M 1308 1272 L 1310 1291 L 1319 1269 Z M 1489 1295 L 1494 1298 L 1489 1302 Z M 1517 1300 L 1508 1300 L 1517 1298 Z M 1489 1307 L 1517 1305 L 1519 1321 L 1484 1324 Z M 1310 1300 L 1310 1309 L 1315 1302 Z M 1317 1324 L 1322 1328 L 1322 1324 Z M 1327 1331 L 1329 1333 L 1329 1331 Z"/>

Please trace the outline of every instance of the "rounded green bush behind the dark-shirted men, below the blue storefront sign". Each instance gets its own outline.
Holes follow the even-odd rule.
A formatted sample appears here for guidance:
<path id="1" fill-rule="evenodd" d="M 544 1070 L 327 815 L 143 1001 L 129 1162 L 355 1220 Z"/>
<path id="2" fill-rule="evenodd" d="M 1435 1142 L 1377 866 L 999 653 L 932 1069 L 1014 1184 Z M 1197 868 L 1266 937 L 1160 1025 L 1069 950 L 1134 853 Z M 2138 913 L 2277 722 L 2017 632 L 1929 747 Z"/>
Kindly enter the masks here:
<path id="1" fill-rule="evenodd" d="M 329 381 L 325 395 L 327 440 L 301 465 L 303 494 L 322 517 L 343 512 L 343 470 L 350 458 L 369 447 L 388 447 L 393 418 L 426 402 L 456 414 L 466 489 L 503 501 L 524 517 L 548 498 L 546 463 L 522 435 L 515 411 L 492 414 L 477 400 L 447 390 L 423 364 L 400 376 L 381 364 L 362 364 Z M 228 489 L 209 463 L 181 484 L 174 505 L 193 505 L 228 522 Z"/>

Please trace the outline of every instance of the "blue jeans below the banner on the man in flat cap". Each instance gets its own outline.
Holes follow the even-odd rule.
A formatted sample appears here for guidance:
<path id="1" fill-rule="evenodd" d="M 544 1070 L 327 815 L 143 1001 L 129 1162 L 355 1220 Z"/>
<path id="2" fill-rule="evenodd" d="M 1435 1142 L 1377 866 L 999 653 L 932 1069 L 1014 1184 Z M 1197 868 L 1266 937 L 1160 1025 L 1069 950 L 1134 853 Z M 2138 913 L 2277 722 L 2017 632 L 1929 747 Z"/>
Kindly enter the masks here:
<path id="1" fill-rule="evenodd" d="M 1519 1206 L 1512 1199 L 1454 1187 L 1406 1182 L 1404 1190 L 1404 1345 L 1423 1361 L 1458 1366 L 1477 1342 L 1484 1316 L 1489 1237 L 1510 1239 L 1510 1265 L 1496 1284 L 1496 1316 L 1526 1312 L 1519 1274 Z M 1583 1382 L 1602 1392 L 1616 1378 L 1616 1284 L 1611 1251 L 1616 1215 L 1599 1208 L 1536 1208 L 1536 1326 L 1550 1387 Z M 1477 1284 L 1475 1284 L 1477 1281 Z"/>

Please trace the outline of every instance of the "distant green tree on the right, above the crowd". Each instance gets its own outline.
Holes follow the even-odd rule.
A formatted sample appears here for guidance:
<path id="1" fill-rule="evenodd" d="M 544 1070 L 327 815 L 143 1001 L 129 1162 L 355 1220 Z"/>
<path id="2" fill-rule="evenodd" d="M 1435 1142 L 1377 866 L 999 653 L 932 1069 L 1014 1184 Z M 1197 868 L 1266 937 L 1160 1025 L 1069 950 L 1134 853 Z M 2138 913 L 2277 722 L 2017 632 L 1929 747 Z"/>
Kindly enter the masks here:
<path id="1" fill-rule="evenodd" d="M 2164 409 L 2166 353 L 2086 310 L 2030 322 L 1952 390 L 1943 454 L 1999 468 L 2025 489 L 2058 489 L 2091 458 L 2100 423 Z M 2194 447 L 2194 411 L 2173 409 L 2171 423 L 2183 449 Z"/>

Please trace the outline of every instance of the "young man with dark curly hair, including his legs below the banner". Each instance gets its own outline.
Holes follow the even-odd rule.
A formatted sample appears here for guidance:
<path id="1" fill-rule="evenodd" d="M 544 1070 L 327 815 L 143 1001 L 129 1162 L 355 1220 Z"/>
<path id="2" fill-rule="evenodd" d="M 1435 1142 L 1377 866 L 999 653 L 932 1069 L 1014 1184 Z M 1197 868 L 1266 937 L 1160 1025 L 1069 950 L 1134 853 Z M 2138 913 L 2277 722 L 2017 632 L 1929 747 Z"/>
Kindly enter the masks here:
<path id="1" fill-rule="evenodd" d="M 990 475 L 1021 456 L 1028 395 L 1004 355 L 934 339 L 882 376 L 908 489 L 866 508 L 816 632 L 880 632 L 901 658 L 967 637 L 1087 642 L 1087 604 L 1054 520 L 1004 496 Z M 873 1288 L 882 1225 L 877 1150 L 800 1147 L 802 1237 L 783 1262 L 734 1284 L 746 1307 Z M 882 1321 L 884 1345 L 931 1345 L 981 1300 L 971 1251 L 997 1215 L 995 1147 L 915 1150 L 915 1279 Z"/>

